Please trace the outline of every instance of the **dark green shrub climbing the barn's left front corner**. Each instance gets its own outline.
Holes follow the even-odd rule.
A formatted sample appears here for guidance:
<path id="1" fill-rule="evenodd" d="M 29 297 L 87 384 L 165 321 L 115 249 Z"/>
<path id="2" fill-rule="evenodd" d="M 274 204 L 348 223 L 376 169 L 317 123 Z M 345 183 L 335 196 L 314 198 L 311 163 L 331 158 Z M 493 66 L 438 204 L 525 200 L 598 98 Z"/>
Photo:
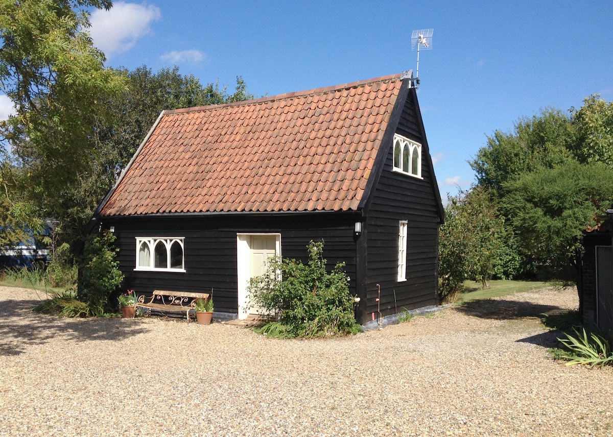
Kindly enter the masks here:
<path id="1" fill-rule="evenodd" d="M 113 246 L 115 235 L 89 235 L 83 249 L 84 264 L 77 298 L 89 305 L 91 314 L 100 316 L 109 306 L 109 295 L 123 281 L 119 262 L 115 260 L 119 249 Z"/>

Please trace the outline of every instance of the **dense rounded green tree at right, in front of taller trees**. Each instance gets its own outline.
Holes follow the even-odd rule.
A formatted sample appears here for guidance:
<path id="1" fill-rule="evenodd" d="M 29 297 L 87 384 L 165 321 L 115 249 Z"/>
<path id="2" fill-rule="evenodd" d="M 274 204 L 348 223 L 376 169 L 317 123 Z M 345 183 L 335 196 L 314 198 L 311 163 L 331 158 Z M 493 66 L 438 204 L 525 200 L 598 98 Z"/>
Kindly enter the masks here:
<path id="1" fill-rule="evenodd" d="M 611 207 L 613 169 L 576 161 L 524 173 L 504 185 L 502 210 L 520 254 L 541 275 L 573 278 L 583 232 Z"/>

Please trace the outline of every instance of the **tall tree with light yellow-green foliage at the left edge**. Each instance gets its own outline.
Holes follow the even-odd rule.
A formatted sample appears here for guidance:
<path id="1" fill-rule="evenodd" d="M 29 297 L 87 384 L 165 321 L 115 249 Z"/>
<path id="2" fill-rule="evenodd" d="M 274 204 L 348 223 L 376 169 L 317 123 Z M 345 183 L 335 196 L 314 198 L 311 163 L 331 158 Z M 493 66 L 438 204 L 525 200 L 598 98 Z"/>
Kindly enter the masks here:
<path id="1" fill-rule="evenodd" d="M 124 82 L 104 68 L 86 29 L 85 8 L 109 9 L 108 0 L 0 2 L 0 90 L 15 115 L 0 123 L 3 240 L 20 223 L 39 227 L 42 218 L 62 219 L 66 192 L 91 171 L 97 149 L 100 104 Z"/>

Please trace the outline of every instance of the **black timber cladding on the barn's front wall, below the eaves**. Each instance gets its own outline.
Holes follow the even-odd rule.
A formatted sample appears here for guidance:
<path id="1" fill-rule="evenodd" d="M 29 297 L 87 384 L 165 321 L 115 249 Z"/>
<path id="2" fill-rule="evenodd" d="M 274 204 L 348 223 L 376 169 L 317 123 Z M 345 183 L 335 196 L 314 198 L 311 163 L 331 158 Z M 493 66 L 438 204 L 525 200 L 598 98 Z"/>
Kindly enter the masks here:
<path id="1" fill-rule="evenodd" d="M 125 275 L 122 289 L 150 293 L 154 289 L 210 292 L 215 311 L 237 313 L 237 234 L 281 234 L 281 254 L 307 262 L 309 241 L 324 241 L 324 258 L 331 270 L 346 263 L 356 294 L 354 213 L 310 213 L 290 216 L 131 216 L 106 218 L 115 227 L 118 260 Z M 184 237 L 186 272 L 135 271 L 136 237 Z"/>

